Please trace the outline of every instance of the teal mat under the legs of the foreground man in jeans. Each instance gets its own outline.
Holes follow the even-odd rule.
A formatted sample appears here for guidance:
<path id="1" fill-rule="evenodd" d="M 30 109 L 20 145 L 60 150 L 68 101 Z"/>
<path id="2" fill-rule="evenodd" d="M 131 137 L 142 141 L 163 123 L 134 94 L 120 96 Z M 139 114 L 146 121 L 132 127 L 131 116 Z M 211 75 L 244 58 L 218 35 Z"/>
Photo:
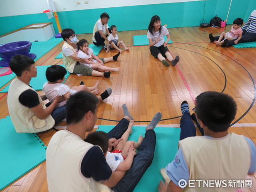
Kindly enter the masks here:
<path id="1" fill-rule="evenodd" d="M 109 132 L 113 127 L 114 125 L 99 125 L 98 131 Z M 156 132 L 157 137 L 154 160 L 137 184 L 134 192 L 158 192 L 158 183 L 160 180 L 163 180 L 163 177 L 160 174 L 160 169 L 172 162 L 178 150 L 180 128 L 156 127 L 154 131 Z M 144 134 L 145 127 L 134 126 L 132 134 L 128 140 L 137 141 L 139 136 L 144 136 Z"/>

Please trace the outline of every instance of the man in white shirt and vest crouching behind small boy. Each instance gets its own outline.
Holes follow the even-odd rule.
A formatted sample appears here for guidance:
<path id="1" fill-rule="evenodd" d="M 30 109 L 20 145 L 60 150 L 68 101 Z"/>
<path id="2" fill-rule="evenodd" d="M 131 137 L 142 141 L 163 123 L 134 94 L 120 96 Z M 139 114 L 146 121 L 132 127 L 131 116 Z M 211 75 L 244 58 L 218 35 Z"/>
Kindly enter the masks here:
<path id="1" fill-rule="evenodd" d="M 104 41 L 106 40 L 108 42 L 108 35 L 111 34 L 111 30 L 108 28 L 108 20 L 109 20 L 108 13 L 102 13 L 100 15 L 100 19 L 95 23 L 93 27 L 93 44 L 94 45 L 102 45 L 104 49 L 107 49 L 107 46 L 105 45 Z"/>

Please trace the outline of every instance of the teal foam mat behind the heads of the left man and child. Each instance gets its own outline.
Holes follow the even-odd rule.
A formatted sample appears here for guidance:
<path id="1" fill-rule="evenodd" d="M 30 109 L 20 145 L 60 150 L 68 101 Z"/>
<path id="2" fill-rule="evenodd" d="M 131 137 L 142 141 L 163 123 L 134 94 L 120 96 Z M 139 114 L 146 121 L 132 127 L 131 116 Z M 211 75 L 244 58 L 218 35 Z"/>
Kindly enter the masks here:
<path id="1" fill-rule="evenodd" d="M 47 67 L 49 67 L 49 66 L 50 65 L 36 66 L 37 67 L 37 76 L 35 78 L 32 78 L 30 81 L 30 86 L 32 86 L 34 90 L 42 90 L 43 89 L 44 83 L 47 82 L 45 72 L 46 72 Z M 61 64 L 61 66 L 64 67 L 64 64 Z M 65 81 L 69 75 L 70 75 L 70 73 L 67 71 L 67 74 L 65 75 Z M 1 90 L 0 93 L 8 92 L 9 86 L 10 85 L 7 85 L 6 87 L 4 87 L 4 89 Z"/>

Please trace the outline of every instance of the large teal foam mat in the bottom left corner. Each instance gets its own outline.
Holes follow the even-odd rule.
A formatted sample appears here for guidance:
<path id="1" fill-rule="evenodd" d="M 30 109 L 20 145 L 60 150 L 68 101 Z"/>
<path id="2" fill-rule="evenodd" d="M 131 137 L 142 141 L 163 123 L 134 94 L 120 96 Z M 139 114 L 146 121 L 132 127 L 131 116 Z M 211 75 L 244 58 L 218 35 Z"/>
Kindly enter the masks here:
<path id="1" fill-rule="evenodd" d="M 36 134 L 16 133 L 10 116 L 0 119 L 0 190 L 45 161 L 46 146 Z"/>

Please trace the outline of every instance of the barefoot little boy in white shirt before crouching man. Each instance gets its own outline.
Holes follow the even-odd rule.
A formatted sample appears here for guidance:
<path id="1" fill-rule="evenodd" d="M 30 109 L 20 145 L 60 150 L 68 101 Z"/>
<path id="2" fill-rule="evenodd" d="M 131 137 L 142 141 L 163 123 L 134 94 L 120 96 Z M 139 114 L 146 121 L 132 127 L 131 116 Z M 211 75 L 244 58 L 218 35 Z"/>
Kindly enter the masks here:
<path id="1" fill-rule="evenodd" d="M 125 51 L 129 51 L 130 49 L 125 46 L 123 41 L 118 41 L 119 38 L 118 38 L 118 35 L 117 35 L 116 26 L 112 25 L 110 27 L 110 29 L 111 29 L 111 34 L 108 36 L 108 44 L 107 44 L 107 47 L 106 47 L 106 49 L 107 49 L 106 52 L 109 52 L 109 49 L 116 49 L 120 53 L 122 53 L 122 50 L 119 49 L 120 45 L 122 45 L 122 47 L 125 48 Z"/>

